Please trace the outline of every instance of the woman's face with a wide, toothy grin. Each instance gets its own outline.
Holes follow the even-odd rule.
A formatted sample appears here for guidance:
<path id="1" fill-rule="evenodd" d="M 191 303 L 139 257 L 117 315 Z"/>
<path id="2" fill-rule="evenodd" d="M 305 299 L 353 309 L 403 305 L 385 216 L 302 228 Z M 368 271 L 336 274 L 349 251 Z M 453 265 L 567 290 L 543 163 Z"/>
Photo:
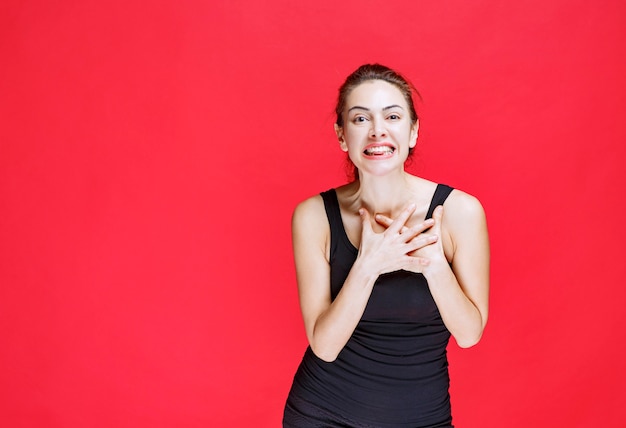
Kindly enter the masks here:
<path id="1" fill-rule="evenodd" d="M 335 126 L 341 149 L 362 172 L 382 175 L 401 167 L 415 147 L 418 124 L 402 92 L 391 83 L 371 80 L 346 98 L 343 127 Z"/>

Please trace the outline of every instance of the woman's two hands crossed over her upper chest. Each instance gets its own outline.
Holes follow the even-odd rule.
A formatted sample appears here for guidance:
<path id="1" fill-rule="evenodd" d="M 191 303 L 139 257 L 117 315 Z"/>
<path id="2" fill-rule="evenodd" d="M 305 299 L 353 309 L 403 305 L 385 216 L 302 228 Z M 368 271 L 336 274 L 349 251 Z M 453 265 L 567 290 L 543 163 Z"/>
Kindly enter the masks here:
<path id="1" fill-rule="evenodd" d="M 410 204 L 395 219 L 377 214 L 375 221 L 386 227 L 384 232 L 377 233 L 368 211 L 359 210 L 362 221 L 359 252 L 367 266 L 376 266 L 378 274 L 401 269 L 424 273 L 440 262 L 447 264 L 441 239 L 443 206 L 435 209 L 431 219 L 407 226 L 414 211 L 415 205 Z"/>

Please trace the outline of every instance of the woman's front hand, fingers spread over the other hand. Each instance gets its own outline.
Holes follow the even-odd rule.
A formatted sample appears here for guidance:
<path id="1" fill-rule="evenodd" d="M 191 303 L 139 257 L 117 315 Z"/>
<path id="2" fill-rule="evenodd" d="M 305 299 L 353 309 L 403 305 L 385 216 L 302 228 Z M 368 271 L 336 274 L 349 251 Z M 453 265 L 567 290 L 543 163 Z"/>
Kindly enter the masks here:
<path id="1" fill-rule="evenodd" d="M 377 233 L 372 228 L 369 212 L 364 208 L 359 210 L 362 222 L 359 264 L 363 269 L 374 275 L 401 269 L 422 272 L 429 261 L 412 253 L 437 242 L 439 237 L 422 234 L 433 225 L 432 220 L 411 227 L 406 225 L 414 211 L 415 205 L 408 205 L 384 232 Z"/>

